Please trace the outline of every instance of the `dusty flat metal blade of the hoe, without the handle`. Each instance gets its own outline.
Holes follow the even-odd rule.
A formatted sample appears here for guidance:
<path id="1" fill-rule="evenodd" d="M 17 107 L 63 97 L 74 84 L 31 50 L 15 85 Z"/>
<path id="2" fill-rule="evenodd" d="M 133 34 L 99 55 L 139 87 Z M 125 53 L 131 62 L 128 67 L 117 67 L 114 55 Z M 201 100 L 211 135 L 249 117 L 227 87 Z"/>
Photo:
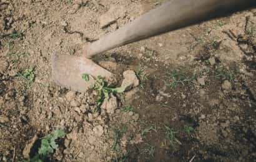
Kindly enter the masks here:
<path id="1" fill-rule="evenodd" d="M 95 82 L 91 76 L 101 76 L 106 80 L 111 80 L 113 77 L 111 72 L 85 57 L 53 54 L 51 64 L 53 80 L 63 87 L 78 92 L 86 92 L 91 87 Z M 83 74 L 89 75 L 88 81 L 82 79 Z"/>

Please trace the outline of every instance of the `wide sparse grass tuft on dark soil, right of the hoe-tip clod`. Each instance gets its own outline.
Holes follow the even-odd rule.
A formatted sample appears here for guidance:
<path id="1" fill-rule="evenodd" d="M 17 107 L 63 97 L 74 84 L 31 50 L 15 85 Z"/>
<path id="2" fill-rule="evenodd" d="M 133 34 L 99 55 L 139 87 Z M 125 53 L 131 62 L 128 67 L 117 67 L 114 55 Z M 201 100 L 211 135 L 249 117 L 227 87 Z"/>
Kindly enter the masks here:
<path id="1" fill-rule="evenodd" d="M 177 85 L 186 85 L 192 83 L 192 80 L 195 79 L 195 74 L 187 75 L 181 70 L 171 70 L 169 74 L 167 74 L 170 80 L 170 83 L 166 83 L 167 86 L 172 88 L 176 87 Z"/>

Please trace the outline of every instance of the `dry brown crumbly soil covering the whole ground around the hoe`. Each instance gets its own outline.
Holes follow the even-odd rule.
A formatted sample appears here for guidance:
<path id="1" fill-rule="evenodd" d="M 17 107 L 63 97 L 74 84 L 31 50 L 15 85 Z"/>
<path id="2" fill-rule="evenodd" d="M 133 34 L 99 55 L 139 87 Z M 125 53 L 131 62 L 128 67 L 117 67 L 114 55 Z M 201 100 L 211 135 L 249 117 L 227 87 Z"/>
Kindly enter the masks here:
<path id="1" fill-rule="evenodd" d="M 95 90 L 52 81 L 52 54 L 82 55 L 162 2 L 0 0 L 0 161 L 56 129 L 67 135 L 49 161 L 255 161 L 255 9 L 97 55 L 140 81 L 101 110 Z"/>

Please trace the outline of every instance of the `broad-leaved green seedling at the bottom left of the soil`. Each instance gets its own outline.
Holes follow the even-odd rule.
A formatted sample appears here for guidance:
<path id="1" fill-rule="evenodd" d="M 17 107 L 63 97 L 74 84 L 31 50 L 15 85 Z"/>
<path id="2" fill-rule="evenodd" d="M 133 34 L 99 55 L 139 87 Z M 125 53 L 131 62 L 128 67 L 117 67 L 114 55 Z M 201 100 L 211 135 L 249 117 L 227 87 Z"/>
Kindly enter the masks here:
<path id="1" fill-rule="evenodd" d="M 47 156 L 54 153 L 54 150 L 59 147 L 56 140 L 64 137 L 65 135 L 66 133 L 63 130 L 55 130 L 50 135 L 44 136 L 44 138 L 41 140 L 41 146 L 37 154 L 30 161 L 42 162 L 46 160 Z"/>

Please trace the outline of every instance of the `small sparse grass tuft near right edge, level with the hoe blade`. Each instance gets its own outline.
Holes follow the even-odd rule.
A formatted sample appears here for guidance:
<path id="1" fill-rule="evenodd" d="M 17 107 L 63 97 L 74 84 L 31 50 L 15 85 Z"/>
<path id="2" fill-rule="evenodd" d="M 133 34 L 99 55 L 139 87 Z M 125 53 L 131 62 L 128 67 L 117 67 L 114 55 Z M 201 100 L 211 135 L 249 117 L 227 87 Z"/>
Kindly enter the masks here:
<path id="1" fill-rule="evenodd" d="M 217 79 L 233 82 L 235 79 L 235 72 L 233 70 L 226 69 L 225 67 L 220 67 L 215 71 L 215 76 Z"/>

